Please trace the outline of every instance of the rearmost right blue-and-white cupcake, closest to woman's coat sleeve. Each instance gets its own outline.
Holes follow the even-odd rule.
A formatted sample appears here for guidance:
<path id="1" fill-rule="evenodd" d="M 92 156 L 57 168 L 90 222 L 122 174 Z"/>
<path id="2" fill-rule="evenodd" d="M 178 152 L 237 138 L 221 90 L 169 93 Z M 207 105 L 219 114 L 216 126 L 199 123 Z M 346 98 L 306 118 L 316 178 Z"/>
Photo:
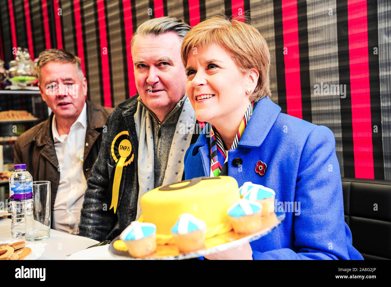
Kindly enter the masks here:
<path id="1" fill-rule="evenodd" d="M 252 184 L 244 195 L 244 199 L 255 200 L 262 204 L 262 215 L 265 216 L 274 211 L 274 197 L 276 193 L 273 189 L 260 184 Z"/>

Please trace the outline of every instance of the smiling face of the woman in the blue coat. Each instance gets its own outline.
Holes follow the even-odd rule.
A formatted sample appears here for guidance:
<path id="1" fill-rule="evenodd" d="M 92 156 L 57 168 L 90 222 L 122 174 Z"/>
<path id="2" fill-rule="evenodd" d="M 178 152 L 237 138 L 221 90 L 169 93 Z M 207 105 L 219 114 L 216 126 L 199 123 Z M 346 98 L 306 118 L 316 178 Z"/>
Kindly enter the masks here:
<path id="1" fill-rule="evenodd" d="M 248 74 L 239 71 L 220 45 L 212 44 L 197 48 L 196 54 L 190 53 L 186 74 L 186 92 L 198 120 L 212 125 L 227 122 L 249 106 Z"/>

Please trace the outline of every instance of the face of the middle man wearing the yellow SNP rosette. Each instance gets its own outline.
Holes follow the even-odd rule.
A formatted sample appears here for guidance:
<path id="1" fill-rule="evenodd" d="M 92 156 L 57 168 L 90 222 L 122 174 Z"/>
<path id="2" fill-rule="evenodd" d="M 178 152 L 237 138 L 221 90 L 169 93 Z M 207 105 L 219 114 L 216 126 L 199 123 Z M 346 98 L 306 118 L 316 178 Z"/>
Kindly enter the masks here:
<path id="1" fill-rule="evenodd" d="M 175 32 L 137 35 L 132 46 L 137 92 L 160 121 L 186 91 L 180 48 L 181 40 Z"/>

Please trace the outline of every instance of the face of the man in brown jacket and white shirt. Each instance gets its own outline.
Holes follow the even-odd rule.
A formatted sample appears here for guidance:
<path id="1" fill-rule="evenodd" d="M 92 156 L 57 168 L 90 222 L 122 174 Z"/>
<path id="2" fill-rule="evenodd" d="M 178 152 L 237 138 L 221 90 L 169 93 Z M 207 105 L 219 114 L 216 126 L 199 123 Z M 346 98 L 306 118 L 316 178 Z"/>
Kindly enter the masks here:
<path id="1" fill-rule="evenodd" d="M 76 121 L 86 101 L 87 80 L 80 79 L 74 64 L 48 62 L 41 68 L 38 86 L 57 120 Z"/>

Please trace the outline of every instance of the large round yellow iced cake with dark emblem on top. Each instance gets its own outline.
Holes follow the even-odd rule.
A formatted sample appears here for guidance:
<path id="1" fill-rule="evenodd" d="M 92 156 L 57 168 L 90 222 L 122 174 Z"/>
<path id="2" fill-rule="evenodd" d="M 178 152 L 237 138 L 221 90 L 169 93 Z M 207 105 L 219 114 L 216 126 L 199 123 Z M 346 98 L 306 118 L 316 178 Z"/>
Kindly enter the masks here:
<path id="1" fill-rule="evenodd" d="M 206 238 L 232 229 L 228 208 L 239 198 L 230 176 L 199 177 L 155 188 L 141 198 L 139 221 L 156 225 L 157 244 L 173 242 L 171 229 L 183 213 L 206 223 Z"/>

